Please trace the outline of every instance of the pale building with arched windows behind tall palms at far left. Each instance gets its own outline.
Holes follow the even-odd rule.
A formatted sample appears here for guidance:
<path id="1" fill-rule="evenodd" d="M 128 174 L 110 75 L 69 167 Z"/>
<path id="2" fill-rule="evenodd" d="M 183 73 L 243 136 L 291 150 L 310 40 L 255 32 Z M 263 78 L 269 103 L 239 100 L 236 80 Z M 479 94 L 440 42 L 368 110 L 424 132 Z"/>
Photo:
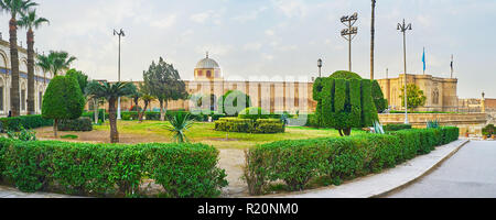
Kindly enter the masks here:
<path id="1" fill-rule="evenodd" d="M 11 88 L 11 72 L 10 72 L 10 46 L 9 42 L 1 38 L 0 34 L 0 117 L 7 117 L 10 110 L 10 88 Z M 19 50 L 19 94 L 21 114 L 28 113 L 28 51 L 21 46 Z M 41 113 L 42 99 L 45 94 L 46 86 L 50 82 L 48 75 L 44 78 L 43 69 L 34 68 L 34 105 L 35 112 Z"/>

